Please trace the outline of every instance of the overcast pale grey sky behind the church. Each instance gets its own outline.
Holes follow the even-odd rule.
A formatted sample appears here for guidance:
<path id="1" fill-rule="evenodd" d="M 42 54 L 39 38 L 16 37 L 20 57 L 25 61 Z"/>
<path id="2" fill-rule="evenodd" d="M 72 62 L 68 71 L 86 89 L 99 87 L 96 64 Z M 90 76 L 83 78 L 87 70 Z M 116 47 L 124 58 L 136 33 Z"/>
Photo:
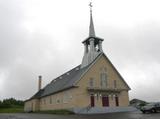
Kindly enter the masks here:
<path id="1" fill-rule="evenodd" d="M 79 65 L 89 0 L 0 0 L 0 99 L 26 99 Z M 160 2 L 94 0 L 103 50 L 130 85 L 130 98 L 160 99 Z"/>

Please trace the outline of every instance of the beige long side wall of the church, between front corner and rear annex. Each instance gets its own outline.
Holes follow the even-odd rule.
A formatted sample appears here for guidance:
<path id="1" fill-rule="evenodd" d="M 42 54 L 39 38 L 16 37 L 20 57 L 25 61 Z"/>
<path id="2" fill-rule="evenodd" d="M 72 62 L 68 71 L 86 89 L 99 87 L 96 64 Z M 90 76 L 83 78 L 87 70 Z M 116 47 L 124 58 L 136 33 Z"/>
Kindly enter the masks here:
<path id="1" fill-rule="evenodd" d="M 75 92 L 77 88 L 71 88 L 40 99 L 40 110 L 71 109 L 75 107 Z"/>

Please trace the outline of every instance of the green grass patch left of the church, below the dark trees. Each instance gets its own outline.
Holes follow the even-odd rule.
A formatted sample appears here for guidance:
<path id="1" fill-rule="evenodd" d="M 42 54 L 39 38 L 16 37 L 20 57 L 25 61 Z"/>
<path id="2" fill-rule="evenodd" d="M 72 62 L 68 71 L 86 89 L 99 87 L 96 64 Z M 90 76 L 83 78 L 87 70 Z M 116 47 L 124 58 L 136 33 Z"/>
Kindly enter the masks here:
<path id="1" fill-rule="evenodd" d="M 0 113 L 22 113 L 23 107 L 0 108 Z"/>

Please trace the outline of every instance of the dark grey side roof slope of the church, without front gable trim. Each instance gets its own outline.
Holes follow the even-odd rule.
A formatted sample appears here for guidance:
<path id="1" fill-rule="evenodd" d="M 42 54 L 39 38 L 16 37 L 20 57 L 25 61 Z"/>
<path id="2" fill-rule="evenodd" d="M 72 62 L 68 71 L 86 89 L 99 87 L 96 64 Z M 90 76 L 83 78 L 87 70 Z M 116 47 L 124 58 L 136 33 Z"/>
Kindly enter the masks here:
<path id="1" fill-rule="evenodd" d="M 81 68 L 81 65 L 71 69 L 70 71 L 62 74 L 61 76 L 53 79 L 48 85 L 46 85 L 43 89 L 39 90 L 31 99 L 37 99 L 41 97 L 45 97 L 69 88 L 76 87 L 74 82 L 79 80 L 81 75 L 86 71 L 89 66 Z"/>

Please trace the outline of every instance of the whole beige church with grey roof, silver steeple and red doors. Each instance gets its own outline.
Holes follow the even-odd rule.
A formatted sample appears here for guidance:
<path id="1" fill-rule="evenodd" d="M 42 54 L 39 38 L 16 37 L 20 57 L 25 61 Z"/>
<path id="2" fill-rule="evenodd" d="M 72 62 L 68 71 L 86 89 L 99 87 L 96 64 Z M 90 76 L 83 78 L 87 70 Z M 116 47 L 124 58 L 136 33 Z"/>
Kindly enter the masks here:
<path id="1" fill-rule="evenodd" d="M 90 5 L 89 36 L 82 42 L 80 65 L 63 73 L 25 101 L 24 110 L 67 109 L 75 113 L 106 113 L 129 108 L 130 87 L 103 52 L 104 39 L 95 34 Z"/>

